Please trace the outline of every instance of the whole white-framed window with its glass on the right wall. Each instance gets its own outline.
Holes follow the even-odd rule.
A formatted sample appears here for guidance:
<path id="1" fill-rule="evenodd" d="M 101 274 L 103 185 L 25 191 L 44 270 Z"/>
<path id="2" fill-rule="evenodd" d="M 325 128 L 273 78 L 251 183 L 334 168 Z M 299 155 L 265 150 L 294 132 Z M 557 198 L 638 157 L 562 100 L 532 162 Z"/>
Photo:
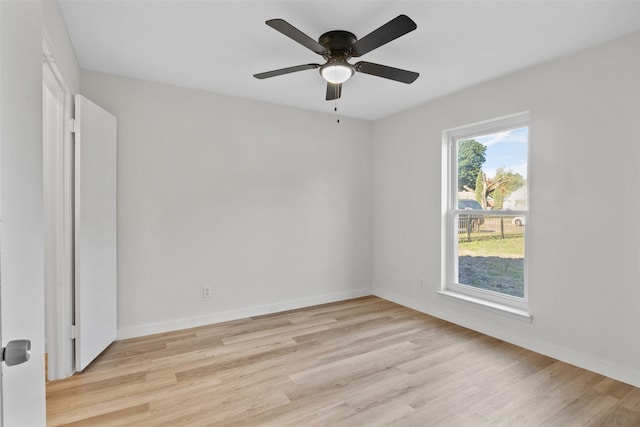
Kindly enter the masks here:
<path id="1" fill-rule="evenodd" d="M 446 296 L 524 316 L 529 115 L 443 133 Z"/>

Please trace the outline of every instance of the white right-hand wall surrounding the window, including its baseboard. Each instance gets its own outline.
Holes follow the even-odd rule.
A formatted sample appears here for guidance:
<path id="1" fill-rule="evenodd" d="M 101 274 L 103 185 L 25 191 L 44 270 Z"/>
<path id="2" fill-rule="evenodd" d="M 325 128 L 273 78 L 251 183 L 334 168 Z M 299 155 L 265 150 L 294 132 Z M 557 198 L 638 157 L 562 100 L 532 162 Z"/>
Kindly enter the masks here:
<path id="1" fill-rule="evenodd" d="M 436 294 L 442 131 L 526 110 L 531 324 Z M 379 120 L 373 141 L 375 294 L 640 386 L 640 33 Z"/>

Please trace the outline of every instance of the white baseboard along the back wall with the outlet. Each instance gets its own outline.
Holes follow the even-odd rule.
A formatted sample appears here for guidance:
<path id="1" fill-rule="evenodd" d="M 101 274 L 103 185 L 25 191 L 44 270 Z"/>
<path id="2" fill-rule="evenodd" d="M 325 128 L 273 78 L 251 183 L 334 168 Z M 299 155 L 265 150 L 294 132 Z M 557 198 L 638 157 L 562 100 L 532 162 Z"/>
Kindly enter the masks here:
<path id="1" fill-rule="evenodd" d="M 335 292 L 331 294 L 322 294 L 322 295 L 316 295 L 309 298 L 300 298 L 300 299 L 283 301 L 283 302 L 272 303 L 272 304 L 264 304 L 264 305 L 258 305 L 253 307 L 221 311 L 217 313 L 206 314 L 203 316 L 195 316 L 195 317 L 189 317 L 189 318 L 170 320 L 166 322 L 132 326 L 128 328 L 118 329 L 117 339 L 122 340 L 127 338 L 142 337 L 145 335 L 177 331 L 180 329 L 189 329 L 196 326 L 211 325 L 213 323 L 244 319 L 246 317 L 278 313 L 281 311 L 310 307 L 318 304 L 327 304 L 330 302 L 344 301 L 347 299 L 359 298 L 359 297 L 364 297 L 368 295 L 371 295 L 371 288 L 356 289 L 356 290 L 346 291 L 346 292 Z"/>

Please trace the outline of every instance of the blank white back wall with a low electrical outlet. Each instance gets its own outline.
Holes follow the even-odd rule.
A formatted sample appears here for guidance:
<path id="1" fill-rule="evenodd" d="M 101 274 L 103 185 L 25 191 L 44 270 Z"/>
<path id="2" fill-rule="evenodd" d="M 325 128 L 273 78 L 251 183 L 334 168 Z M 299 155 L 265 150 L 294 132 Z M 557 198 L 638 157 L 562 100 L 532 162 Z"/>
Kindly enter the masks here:
<path id="1" fill-rule="evenodd" d="M 120 338 L 371 293 L 370 122 L 85 70 L 81 89 L 118 117 Z"/>

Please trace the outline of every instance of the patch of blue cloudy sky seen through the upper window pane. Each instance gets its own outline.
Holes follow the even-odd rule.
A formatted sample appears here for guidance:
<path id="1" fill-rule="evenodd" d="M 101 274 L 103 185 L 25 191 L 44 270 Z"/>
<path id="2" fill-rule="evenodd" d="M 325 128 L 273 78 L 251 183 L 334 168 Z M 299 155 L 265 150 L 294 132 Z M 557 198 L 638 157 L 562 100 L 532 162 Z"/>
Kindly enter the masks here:
<path id="1" fill-rule="evenodd" d="M 496 169 L 504 167 L 527 179 L 528 134 L 529 128 L 522 127 L 473 138 L 487 147 L 487 159 L 482 165 L 487 177 L 495 177 Z"/>

